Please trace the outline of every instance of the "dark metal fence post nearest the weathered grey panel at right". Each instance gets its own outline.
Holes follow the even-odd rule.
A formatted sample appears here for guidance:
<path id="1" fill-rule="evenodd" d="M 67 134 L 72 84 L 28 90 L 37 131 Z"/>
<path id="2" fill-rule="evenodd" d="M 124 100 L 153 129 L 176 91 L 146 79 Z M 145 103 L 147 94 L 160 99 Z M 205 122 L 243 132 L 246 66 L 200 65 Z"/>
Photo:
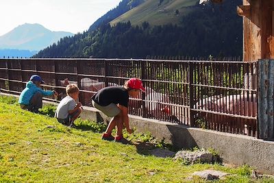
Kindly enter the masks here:
<path id="1" fill-rule="evenodd" d="M 190 107 L 190 127 L 195 127 L 195 119 L 194 119 L 194 89 L 193 89 L 193 71 L 194 71 L 194 65 L 193 62 L 188 62 L 188 78 L 189 78 L 189 107 Z"/>

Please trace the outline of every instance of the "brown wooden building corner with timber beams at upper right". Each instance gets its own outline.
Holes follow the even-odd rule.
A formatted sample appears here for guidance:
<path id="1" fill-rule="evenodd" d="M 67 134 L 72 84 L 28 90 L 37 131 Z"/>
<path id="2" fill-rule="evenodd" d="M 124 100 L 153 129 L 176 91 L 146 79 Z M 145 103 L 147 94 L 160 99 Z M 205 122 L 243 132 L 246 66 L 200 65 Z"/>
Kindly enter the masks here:
<path id="1" fill-rule="evenodd" d="M 237 12 L 243 16 L 244 61 L 274 59 L 274 0 L 242 0 Z"/>

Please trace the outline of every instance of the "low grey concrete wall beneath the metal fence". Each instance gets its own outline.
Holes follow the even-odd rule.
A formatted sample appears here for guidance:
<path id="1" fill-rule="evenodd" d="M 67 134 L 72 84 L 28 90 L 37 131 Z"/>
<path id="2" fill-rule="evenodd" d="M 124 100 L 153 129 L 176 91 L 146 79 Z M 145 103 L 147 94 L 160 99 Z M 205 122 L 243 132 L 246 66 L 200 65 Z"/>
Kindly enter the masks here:
<path id="1" fill-rule="evenodd" d="M 88 107 L 84 107 L 81 118 L 105 123 L 110 121 L 110 118 L 101 111 Z M 223 162 L 236 165 L 249 164 L 258 171 L 274 174 L 274 142 L 132 115 L 129 115 L 129 123 L 131 127 L 136 127 L 138 132 L 151 132 L 156 138 L 164 138 L 166 143 L 172 143 L 175 147 L 185 149 L 195 146 L 206 149 L 212 147 Z"/>

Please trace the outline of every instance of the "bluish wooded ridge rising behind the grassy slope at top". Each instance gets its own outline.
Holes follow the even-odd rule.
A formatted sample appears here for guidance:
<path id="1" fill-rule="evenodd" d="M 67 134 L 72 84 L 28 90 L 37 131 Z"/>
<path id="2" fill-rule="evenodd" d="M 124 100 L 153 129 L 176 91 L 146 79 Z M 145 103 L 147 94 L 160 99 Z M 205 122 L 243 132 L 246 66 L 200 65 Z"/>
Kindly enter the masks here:
<path id="1" fill-rule="evenodd" d="M 125 12 L 134 9 L 138 5 L 144 3 L 145 0 L 123 0 L 117 5 L 116 8 L 110 10 L 101 18 L 99 18 L 95 23 L 93 23 L 90 28 L 88 29 L 89 32 L 94 31 L 97 29 L 102 23 L 109 23 L 110 21 L 116 19 L 118 16 L 121 16 Z"/>

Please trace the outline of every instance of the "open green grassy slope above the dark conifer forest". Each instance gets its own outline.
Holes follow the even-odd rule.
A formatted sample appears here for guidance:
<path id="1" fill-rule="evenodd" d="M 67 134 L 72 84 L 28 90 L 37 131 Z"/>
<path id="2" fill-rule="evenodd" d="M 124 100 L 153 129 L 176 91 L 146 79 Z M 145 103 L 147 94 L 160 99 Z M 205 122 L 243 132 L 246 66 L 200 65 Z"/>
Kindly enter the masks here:
<path id="1" fill-rule="evenodd" d="M 130 21 L 132 25 L 140 25 L 144 21 L 149 22 L 151 25 L 168 23 L 177 23 L 179 25 L 179 18 L 193 11 L 193 8 L 188 7 L 195 5 L 197 0 L 164 0 L 160 6 L 158 6 L 158 3 L 159 0 L 147 0 L 133 10 L 114 19 L 111 25 L 127 21 Z M 179 10 L 178 15 L 175 14 L 175 10 Z"/>

